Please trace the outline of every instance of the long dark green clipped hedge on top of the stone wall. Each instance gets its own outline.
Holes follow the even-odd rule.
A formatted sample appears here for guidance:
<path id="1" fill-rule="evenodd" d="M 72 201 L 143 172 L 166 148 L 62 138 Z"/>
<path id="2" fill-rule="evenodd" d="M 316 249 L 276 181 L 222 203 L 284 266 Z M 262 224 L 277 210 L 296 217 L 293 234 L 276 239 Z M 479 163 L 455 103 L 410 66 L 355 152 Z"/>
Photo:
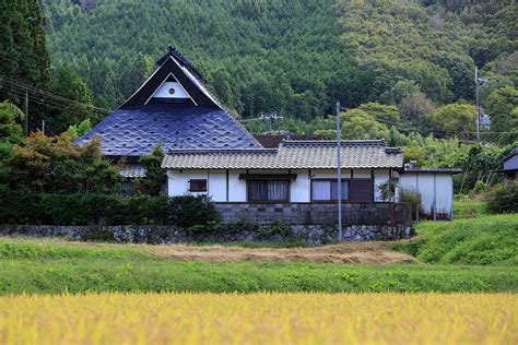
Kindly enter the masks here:
<path id="1" fill-rule="evenodd" d="M 190 227 L 217 219 L 214 204 L 204 195 L 168 199 L 164 195 L 10 192 L 0 193 L 0 224 Z"/>

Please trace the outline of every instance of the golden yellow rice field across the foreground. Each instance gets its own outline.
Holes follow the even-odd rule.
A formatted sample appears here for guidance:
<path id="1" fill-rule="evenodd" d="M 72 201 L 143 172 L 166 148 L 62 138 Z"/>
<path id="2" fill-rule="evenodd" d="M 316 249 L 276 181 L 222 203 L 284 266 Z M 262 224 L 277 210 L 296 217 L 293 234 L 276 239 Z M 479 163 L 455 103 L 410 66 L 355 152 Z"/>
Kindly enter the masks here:
<path id="1" fill-rule="evenodd" d="M 1 344 L 517 344 L 510 294 L 0 297 Z"/>

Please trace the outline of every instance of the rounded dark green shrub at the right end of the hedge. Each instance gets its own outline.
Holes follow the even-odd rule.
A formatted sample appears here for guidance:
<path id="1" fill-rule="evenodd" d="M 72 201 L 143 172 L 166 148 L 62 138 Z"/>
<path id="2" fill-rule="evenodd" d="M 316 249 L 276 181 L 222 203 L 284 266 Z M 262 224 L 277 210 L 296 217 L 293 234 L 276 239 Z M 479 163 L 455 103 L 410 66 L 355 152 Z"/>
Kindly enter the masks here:
<path id="1" fill-rule="evenodd" d="M 212 200 L 205 195 L 181 195 L 169 199 L 169 221 L 185 229 L 202 230 L 219 222 L 220 217 Z M 195 227 L 198 226 L 198 227 Z"/>

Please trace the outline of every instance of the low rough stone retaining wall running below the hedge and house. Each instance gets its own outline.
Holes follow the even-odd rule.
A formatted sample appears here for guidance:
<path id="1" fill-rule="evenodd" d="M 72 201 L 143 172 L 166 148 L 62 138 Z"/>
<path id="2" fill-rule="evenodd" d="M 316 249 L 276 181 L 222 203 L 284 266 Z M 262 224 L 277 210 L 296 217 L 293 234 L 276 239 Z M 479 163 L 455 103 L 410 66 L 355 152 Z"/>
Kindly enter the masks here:
<path id="1" fill-rule="evenodd" d="M 328 245 L 338 241 L 335 226 L 328 225 L 272 225 L 224 227 L 209 234 L 189 234 L 174 226 L 48 226 L 17 225 L 0 227 L 3 236 L 60 237 L 82 241 L 113 241 L 132 243 L 181 242 L 286 242 Z M 412 226 L 351 225 L 343 228 L 349 241 L 396 240 L 414 235 Z"/>

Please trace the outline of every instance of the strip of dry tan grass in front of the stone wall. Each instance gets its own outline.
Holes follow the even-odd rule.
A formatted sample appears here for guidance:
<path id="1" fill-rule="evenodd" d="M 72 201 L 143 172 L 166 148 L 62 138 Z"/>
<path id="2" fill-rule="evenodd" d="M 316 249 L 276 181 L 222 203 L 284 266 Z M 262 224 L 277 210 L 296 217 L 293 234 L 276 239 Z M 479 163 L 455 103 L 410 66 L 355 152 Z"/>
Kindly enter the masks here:
<path id="1" fill-rule="evenodd" d="M 188 261 L 283 261 L 334 263 L 400 263 L 415 259 L 390 249 L 388 242 L 346 242 L 310 248 L 242 248 L 226 246 L 145 246 L 160 258 Z"/>

